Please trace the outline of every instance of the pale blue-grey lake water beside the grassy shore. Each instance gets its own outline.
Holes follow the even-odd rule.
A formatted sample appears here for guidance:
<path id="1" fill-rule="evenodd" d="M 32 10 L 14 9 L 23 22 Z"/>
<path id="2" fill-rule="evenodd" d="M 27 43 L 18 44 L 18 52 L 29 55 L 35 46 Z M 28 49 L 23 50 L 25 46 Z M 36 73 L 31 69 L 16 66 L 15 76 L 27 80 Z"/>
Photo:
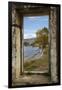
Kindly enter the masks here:
<path id="1" fill-rule="evenodd" d="M 41 50 L 38 47 L 24 46 L 24 60 L 34 59 L 40 56 Z"/>

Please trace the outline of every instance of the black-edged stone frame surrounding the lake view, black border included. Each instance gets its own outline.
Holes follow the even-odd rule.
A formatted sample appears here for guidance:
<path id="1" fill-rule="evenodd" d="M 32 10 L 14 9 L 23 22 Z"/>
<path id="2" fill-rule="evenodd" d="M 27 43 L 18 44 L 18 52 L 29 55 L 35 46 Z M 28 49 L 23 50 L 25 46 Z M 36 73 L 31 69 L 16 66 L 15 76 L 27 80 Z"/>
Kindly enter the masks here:
<path id="1" fill-rule="evenodd" d="M 21 83 L 23 79 L 20 78 L 24 75 L 24 51 L 22 43 L 24 32 L 22 26 L 25 15 L 49 15 L 49 69 L 48 73 L 42 73 L 43 76 L 49 77 L 49 82 L 35 84 L 30 83 L 31 81 L 24 81 Z M 15 61 L 14 77 L 12 70 L 13 61 Z M 29 74 L 30 73 L 28 73 L 28 76 Z M 31 73 L 30 75 L 36 74 L 37 76 L 38 74 L 41 75 L 40 73 Z M 27 80 L 28 79 L 29 78 L 27 78 Z M 60 85 L 60 5 L 8 2 L 8 88 L 53 85 Z"/>

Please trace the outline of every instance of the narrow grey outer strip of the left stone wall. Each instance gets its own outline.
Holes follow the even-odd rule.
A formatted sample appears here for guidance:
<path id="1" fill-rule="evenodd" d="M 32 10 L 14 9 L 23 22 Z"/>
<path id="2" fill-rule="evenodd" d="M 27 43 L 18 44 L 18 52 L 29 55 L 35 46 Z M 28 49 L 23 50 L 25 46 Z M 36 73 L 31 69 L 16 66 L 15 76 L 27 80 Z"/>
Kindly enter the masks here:
<path id="1" fill-rule="evenodd" d="M 16 22 L 16 12 L 12 9 L 12 24 Z M 16 34 L 15 34 L 15 27 L 12 26 L 12 80 L 16 77 Z"/>

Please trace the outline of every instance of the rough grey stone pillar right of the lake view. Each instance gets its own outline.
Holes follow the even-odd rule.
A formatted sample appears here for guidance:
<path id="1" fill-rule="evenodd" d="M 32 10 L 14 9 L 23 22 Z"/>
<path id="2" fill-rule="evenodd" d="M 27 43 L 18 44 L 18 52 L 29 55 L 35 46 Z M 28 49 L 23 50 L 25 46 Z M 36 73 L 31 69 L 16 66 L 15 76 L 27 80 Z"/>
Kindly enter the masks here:
<path id="1" fill-rule="evenodd" d="M 50 35 L 51 35 L 51 57 L 50 57 L 50 65 L 51 65 L 51 80 L 53 82 L 57 82 L 57 53 L 56 53 L 56 8 L 51 7 L 50 10 Z"/>

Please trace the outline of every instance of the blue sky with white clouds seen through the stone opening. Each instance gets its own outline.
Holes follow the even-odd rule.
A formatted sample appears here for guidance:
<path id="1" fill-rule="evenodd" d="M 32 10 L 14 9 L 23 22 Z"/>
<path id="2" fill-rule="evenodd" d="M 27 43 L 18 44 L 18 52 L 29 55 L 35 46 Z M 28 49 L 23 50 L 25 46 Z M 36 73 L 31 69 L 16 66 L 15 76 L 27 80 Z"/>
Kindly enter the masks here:
<path id="1" fill-rule="evenodd" d="M 36 37 L 36 31 L 42 29 L 43 27 L 49 26 L 48 16 L 31 16 L 24 17 L 23 29 L 24 29 L 24 39 Z"/>

